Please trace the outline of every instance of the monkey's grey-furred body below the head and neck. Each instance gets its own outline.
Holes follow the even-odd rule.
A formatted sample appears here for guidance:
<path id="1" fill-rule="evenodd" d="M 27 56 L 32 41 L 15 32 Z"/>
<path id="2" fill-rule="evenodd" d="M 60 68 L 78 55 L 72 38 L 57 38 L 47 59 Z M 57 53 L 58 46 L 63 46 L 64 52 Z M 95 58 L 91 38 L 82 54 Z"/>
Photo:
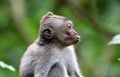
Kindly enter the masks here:
<path id="1" fill-rule="evenodd" d="M 21 77 L 82 77 L 73 46 L 30 45 L 20 64 Z"/>

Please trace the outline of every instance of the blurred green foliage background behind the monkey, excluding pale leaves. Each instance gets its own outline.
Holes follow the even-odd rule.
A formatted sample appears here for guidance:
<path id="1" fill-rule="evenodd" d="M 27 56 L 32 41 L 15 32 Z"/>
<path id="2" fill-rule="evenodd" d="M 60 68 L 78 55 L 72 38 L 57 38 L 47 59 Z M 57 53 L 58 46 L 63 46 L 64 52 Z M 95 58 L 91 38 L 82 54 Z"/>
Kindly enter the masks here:
<path id="1" fill-rule="evenodd" d="M 75 45 L 85 77 L 120 77 L 120 45 L 108 42 L 120 33 L 120 0 L 0 0 L 0 77 L 19 77 L 24 51 L 38 36 L 48 11 L 73 20 L 81 42 Z"/>

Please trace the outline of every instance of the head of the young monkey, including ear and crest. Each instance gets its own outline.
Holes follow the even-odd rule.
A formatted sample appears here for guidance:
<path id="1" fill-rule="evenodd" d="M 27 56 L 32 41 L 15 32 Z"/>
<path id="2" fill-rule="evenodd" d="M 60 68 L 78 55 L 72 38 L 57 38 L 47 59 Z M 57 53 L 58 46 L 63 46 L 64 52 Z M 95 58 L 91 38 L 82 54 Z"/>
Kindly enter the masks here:
<path id="1" fill-rule="evenodd" d="M 70 19 L 48 12 L 41 20 L 40 41 L 66 47 L 77 43 L 80 36 Z"/>

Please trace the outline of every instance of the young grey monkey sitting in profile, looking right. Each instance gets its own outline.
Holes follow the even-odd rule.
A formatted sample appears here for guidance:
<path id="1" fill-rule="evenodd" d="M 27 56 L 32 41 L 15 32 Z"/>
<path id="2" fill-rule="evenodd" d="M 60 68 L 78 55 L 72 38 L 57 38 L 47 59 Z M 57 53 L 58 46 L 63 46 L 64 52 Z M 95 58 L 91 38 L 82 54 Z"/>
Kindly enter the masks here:
<path id="1" fill-rule="evenodd" d="M 38 38 L 21 58 L 20 77 L 83 77 L 73 46 L 79 41 L 72 20 L 46 13 Z"/>

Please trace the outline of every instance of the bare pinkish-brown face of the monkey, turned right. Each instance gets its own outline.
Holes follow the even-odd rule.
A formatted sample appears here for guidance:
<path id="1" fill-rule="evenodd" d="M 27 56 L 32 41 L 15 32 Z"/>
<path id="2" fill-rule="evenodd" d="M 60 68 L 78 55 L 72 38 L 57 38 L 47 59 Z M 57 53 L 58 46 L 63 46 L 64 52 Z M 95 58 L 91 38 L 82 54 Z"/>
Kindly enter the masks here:
<path id="1" fill-rule="evenodd" d="M 71 20 L 66 20 L 61 24 L 57 30 L 56 36 L 63 46 L 75 44 L 80 40 L 80 36 L 73 29 L 73 23 Z"/>

